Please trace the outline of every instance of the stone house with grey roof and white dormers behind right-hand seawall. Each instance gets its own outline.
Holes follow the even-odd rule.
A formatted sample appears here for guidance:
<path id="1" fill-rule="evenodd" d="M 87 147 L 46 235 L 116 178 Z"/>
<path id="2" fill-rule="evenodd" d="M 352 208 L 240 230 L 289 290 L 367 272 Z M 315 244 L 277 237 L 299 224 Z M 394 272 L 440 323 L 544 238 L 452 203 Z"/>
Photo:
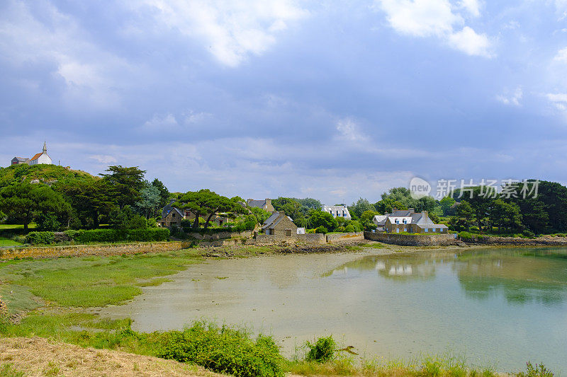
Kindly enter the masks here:
<path id="1" fill-rule="evenodd" d="M 449 228 L 443 224 L 434 224 L 427 211 L 415 212 L 410 209 L 392 210 L 391 214 L 374 216 L 376 231 L 385 233 L 447 233 Z"/>

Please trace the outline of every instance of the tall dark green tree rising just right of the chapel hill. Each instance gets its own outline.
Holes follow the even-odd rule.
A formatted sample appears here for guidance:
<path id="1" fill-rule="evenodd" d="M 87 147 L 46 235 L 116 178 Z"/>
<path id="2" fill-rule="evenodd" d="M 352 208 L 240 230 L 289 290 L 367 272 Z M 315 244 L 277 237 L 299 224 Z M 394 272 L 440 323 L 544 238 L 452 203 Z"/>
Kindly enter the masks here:
<path id="1" fill-rule="evenodd" d="M 109 194 L 114 202 L 120 208 L 134 206 L 140 200 L 140 191 L 144 188 L 145 170 L 140 170 L 137 166 L 128 168 L 118 165 L 108 166 L 106 171 L 110 173 L 101 176 L 111 187 Z"/>

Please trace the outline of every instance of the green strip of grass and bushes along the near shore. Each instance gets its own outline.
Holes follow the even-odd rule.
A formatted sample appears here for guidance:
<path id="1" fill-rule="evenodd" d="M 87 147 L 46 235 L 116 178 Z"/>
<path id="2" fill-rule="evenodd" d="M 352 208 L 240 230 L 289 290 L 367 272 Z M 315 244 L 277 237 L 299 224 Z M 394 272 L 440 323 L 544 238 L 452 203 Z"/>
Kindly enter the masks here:
<path id="1" fill-rule="evenodd" d="M 128 319 L 100 320 L 94 314 L 72 311 L 52 313 L 45 308 L 30 313 L 19 325 L 2 323 L 0 333 L 4 337 L 44 337 L 51 342 L 80 347 L 157 356 L 242 377 L 283 377 L 286 373 L 301 376 L 498 375 L 490 368 L 471 368 L 465 359 L 450 354 L 425 356 L 412 361 L 359 358 L 337 352 L 339 346 L 334 342 L 306 344 L 298 349 L 293 359 L 286 360 L 271 337 L 252 337 L 241 328 L 198 322 L 183 331 L 140 333 L 130 329 Z M 13 362 L 0 359 L 0 365 L 10 361 Z M 26 376 L 19 369 L 13 369 L 13 372 Z M 536 373 L 530 376 L 547 377 L 549 374 Z"/>

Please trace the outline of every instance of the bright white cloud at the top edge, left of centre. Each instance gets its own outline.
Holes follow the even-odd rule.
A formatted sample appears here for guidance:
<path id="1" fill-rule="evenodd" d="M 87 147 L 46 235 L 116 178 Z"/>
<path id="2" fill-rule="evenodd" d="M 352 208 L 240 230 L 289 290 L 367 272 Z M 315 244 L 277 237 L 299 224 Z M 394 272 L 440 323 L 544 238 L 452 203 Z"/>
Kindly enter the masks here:
<path id="1" fill-rule="evenodd" d="M 203 40 L 227 66 L 262 54 L 274 45 L 277 33 L 308 14 L 290 0 L 147 0 L 145 5 L 166 28 Z"/>

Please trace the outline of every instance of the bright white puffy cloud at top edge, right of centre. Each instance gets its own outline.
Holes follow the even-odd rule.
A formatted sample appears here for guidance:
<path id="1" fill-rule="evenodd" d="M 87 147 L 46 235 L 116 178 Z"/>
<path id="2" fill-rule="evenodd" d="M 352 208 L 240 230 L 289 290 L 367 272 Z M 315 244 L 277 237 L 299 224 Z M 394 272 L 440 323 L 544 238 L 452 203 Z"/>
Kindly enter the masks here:
<path id="1" fill-rule="evenodd" d="M 464 25 L 464 17 L 454 12 L 448 0 L 376 0 L 386 13 L 391 27 L 400 34 L 414 37 L 438 37 L 456 50 L 468 55 L 491 57 L 490 39 Z M 460 7 L 473 16 L 480 16 L 476 0 L 461 1 Z"/>

